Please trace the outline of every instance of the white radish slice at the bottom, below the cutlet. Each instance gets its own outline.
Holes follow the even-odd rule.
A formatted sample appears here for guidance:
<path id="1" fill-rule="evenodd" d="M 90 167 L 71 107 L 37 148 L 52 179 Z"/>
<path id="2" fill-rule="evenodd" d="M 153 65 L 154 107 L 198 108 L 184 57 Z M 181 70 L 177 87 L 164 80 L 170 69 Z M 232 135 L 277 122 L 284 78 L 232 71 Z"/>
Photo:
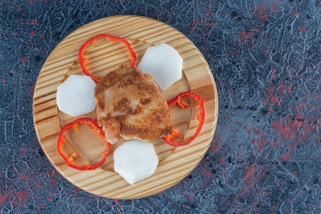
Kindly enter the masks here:
<path id="1" fill-rule="evenodd" d="M 114 170 L 129 184 L 150 177 L 157 164 L 158 158 L 152 143 L 130 140 L 114 151 Z"/>

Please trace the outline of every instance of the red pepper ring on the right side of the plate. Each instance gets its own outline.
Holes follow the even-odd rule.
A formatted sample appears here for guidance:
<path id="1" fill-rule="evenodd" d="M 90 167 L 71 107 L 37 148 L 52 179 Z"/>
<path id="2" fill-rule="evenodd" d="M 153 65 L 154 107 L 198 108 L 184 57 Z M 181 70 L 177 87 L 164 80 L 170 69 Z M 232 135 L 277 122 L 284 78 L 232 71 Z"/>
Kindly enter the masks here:
<path id="1" fill-rule="evenodd" d="M 170 108 L 171 108 L 171 106 L 176 105 L 176 104 L 182 108 L 187 108 L 188 103 L 182 101 L 182 99 L 185 98 L 186 96 L 190 96 L 195 101 L 199 102 L 199 114 L 197 115 L 198 126 L 196 128 L 195 133 L 190 138 L 186 139 L 183 142 L 175 142 L 173 140 L 174 137 L 180 136 L 178 129 L 173 128 L 169 134 L 167 134 L 165 137 L 162 137 L 162 139 L 167 144 L 169 144 L 171 146 L 184 146 L 184 145 L 191 143 L 196 138 L 196 136 L 199 134 L 199 132 L 202 129 L 203 124 L 204 124 L 204 120 L 205 120 L 204 101 L 201 96 L 194 94 L 191 91 L 185 91 L 185 92 L 182 92 L 182 93 L 179 93 L 178 95 L 176 95 L 172 100 L 167 101 L 167 104 Z"/>

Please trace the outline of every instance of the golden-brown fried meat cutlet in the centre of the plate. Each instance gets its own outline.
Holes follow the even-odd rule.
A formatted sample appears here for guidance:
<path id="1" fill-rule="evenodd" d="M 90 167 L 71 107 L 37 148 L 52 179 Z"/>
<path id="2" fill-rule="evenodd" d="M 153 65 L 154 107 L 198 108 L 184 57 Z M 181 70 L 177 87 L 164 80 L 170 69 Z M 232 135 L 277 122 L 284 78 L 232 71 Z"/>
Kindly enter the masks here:
<path id="1" fill-rule="evenodd" d="M 171 130 L 167 101 L 154 78 L 119 66 L 95 87 L 98 125 L 114 144 L 119 137 L 151 142 Z"/>

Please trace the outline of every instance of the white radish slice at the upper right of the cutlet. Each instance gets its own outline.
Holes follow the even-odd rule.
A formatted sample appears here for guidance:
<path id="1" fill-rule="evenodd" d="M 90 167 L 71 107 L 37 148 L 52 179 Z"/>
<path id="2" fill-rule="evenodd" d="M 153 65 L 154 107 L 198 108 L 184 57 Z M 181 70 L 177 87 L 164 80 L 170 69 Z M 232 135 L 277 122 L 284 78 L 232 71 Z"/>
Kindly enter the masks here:
<path id="1" fill-rule="evenodd" d="M 162 43 L 147 48 L 138 64 L 141 73 L 152 75 L 161 90 L 182 78 L 183 59 L 171 46 Z"/>

